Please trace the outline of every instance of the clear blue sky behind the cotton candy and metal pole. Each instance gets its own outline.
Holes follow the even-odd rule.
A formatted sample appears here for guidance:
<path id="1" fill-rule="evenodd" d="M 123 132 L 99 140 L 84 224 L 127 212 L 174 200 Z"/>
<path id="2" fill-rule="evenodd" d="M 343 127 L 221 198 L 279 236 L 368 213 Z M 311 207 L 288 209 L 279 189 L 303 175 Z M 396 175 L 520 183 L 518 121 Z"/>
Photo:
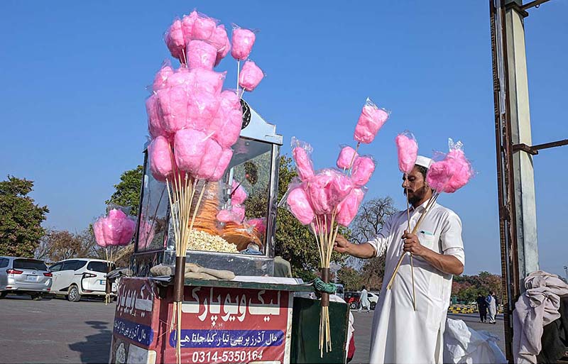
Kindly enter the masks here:
<path id="1" fill-rule="evenodd" d="M 459 4 L 456 6 L 456 4 Z M 391 119 L 361 153 L 378 160 L 368 197 L 405 204 L 393 139 L 420 152 L 463 140 L 479 172 L 439 202 L 464 225 L 467 274 L 500 272 L 488 1 L 2 1 L 0 176 L 35 181 L 45 226 L 80 231 L 104 212 L 119 176 L 143 161 L 146 85 L 168 58 L 162 35 L 192 9 L 257 28 L 251 53 L 266 78 L 249 103 L 334 164 L 370 96 Z M 530 11 L 527 32 L 533 143 L 567 138 L 565 1 Z M 219 67 L 236 77 L 229 57 Z M 568 147 L 535 157 L 540 264 L 568 263 Z"/>

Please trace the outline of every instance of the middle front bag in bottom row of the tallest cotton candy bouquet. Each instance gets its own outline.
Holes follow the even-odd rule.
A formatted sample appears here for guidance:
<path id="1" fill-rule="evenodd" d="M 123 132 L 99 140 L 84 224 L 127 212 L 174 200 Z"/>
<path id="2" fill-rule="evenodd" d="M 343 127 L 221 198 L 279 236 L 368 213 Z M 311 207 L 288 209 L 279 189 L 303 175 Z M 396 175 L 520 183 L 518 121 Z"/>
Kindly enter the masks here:
<path id="1" fill-rule="evenodd" d="M 174 136 L 175 164 L 180 170 L 195 175 L 199 171 L 206 145 L 207 136 L 201 131 L 194 129 L 178 131 Z"/>

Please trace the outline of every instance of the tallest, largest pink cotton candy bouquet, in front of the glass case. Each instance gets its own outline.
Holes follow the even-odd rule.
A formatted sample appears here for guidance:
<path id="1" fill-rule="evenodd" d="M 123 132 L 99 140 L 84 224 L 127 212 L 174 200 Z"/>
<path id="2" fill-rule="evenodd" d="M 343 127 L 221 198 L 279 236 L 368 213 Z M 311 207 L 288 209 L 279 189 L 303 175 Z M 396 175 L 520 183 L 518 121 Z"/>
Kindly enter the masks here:
<path id="1" fill-rule="evenodd" d="M 197 211 L 207 183 L 222 179 L 233 156 L 231 146 L 239 138 L 242 126 L 241 93 L 253 91 L 264 75 L 254 62 L 247 60 L 255 33 L 234 26 L 231 38 L 232 49 L 224 25 L 197 11 L 175 19 L 165 32 L 164 41 L 181 67 L 175 70 L 165 62 L 154 77 L 151 96 L 146 99 L 150 170 L 156 180 L 167 184 L 175 235 L 173 321 L 178 322 L 178 363 L 185 256 Z M 224 89 L 225 72 L 214 70 L 229 51 L 237 60 L 236 91 Z M 241 60 L 246 60 L 243 70 Z M 217 218 L 243 222 L 244 207 L 239 198 L 243 196 L 234 196 L 231 208 L 220 211 Z"/>

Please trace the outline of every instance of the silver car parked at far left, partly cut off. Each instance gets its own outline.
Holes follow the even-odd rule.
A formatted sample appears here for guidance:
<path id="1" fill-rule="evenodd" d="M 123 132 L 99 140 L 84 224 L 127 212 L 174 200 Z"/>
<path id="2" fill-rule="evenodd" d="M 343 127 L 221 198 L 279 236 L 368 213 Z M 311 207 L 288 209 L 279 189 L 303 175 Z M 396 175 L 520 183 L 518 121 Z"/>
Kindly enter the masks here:
<path id="1" fill-rule="evenodd" d="M 42 260 L 0 257 L 0 298 L 9 293 L 40 299 L 51 289 L 51 272 Z"/>

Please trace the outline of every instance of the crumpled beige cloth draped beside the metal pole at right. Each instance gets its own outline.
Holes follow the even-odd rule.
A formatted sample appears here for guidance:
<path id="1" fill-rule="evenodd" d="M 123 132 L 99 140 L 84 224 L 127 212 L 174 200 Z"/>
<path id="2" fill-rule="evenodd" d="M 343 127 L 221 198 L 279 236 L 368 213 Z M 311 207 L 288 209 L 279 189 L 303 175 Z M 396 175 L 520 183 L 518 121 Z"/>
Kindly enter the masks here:
<path id="1" fill-rule="evenodd" d="M 568 285 L 557 275 L 537 270 L 525 278 L 525 288 L 513 311 L 513 355 L 515 363 L 537 363 L 544 326 L 560 317 L 560 297 Z"/>

